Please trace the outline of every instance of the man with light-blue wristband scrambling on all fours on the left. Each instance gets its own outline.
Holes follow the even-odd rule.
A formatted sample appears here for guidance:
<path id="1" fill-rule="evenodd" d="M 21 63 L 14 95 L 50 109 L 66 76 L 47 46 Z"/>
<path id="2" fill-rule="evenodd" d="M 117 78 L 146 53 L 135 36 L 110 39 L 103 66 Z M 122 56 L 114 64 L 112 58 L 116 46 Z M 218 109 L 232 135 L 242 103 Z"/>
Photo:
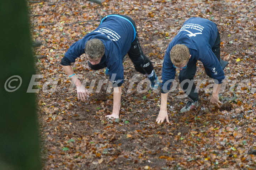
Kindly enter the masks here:
<path id="1" fill-rule="evenodd" d="M 151 81 L 151 87 L 160 86 L 158 77 L 150 60 L 143 54 L 139 44 L 138 33 L 132 18 L 124 15 L 108 15 L 101 20 L 101 24 L 84 38 L 70 46 L 61 65 L 76 85 L 78 99 L 85 100 L 89 95 L 87 89 L 76 77 L 71 62 L 82 54 L 86 54 L 89 67 L 93 70 L 106 68 L 106 75 L 110 76 L 113 92 L 113 111 L 108 118 L 119 118 L 121 103 L 121 85 L 124 82 L 123 60 L 126 54 L 132 60 L 135 70 L 146 74 Z"/>

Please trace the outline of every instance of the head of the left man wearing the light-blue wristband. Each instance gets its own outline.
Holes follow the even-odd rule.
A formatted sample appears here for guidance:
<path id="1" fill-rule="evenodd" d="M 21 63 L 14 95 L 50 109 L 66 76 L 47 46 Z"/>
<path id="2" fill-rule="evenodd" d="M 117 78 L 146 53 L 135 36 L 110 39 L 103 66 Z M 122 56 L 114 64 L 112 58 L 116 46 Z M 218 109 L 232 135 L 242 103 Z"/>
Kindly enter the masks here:
<path id="1" fill-rule="evenodd" d="M 89 41 L 86 42 L 85 54 L 87 55 L 87 58 L 90 62 L 100 61 L 104 53 L 105 53 L 105 46 L 101 40 L 95 38 L 95 39 L 90 39 Z M 91 62 L 91 64 L 95 65 L 94 62 Z"/>

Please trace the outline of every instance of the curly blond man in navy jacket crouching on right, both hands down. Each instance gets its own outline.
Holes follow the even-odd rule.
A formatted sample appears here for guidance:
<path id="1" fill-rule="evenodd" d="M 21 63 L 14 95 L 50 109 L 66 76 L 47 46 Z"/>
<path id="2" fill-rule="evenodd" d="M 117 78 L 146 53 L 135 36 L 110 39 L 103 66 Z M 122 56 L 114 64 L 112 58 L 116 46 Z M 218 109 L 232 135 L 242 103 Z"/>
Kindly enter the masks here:
<path id="1" fill-rule="evenodd" d="M 228 64 L 220 59 L 220 35 L 217 24 L 205 18 L 190 18 L 167 47 L 162 67 L 161 106 L 156 122 L 162 123 L 167 115 L 167 97 L 176 68 L 180 69 L 179 80 L 182 90 L 190 98 L 181 112 L 198 108 L 198 93 L 194 84 L 197 60 L 200 60 L 206 74 L 214 79 L 210 102 L 219 107 L 219 91 L 225 78 L 223 69 Z"/>

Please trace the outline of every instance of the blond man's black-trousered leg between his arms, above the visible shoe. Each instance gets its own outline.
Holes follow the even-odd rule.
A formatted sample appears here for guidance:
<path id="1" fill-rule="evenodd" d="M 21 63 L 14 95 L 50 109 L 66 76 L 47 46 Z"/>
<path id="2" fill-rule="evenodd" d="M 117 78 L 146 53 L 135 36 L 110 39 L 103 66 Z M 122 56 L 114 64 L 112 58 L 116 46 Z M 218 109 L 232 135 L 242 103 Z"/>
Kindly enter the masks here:
<path id="1" fill-rule="evenodd" d="M 178 79 L 180 80 L 181 89 L 186 92 L 186 95 L 190 99 L 193 100 L 193 102 L 196 102 L 198 100 L 198 93 L 196 89 L 196 85 L 194 84 L 194 76 L 196 75 L 196 63 L 197 61 L 192 61 L 187 64 L 187 68 L 183 68 L 180 70 L 180 75 Z M 193 82 L 193 84 L 192 84 Z"/>

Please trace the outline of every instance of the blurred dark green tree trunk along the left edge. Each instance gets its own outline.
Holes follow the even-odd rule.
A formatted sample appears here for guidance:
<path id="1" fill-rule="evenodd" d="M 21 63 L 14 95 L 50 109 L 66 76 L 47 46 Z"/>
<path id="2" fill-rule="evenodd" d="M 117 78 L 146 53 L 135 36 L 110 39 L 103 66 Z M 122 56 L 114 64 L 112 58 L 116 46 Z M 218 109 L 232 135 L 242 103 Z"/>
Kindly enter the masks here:
<path id="1" fill-rule="evenodd" d="M 36 97 L 26 93 L 34 61 L 27 1 L 1 0 L 0 170 L 41 169 Z"/>

